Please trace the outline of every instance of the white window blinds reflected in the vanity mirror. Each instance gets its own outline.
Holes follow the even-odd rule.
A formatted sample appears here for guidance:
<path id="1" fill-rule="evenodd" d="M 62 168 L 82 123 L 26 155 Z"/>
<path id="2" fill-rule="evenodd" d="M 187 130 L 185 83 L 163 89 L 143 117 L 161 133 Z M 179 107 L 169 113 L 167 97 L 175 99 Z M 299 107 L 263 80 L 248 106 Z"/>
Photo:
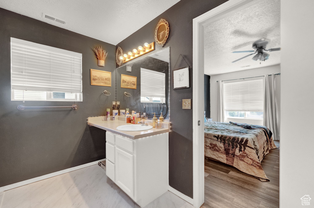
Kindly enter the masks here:
<path id="1" fill-rule="evenodd" d="M 165 98 L 165 73 L 141 68 L 141 97 Z"/>

